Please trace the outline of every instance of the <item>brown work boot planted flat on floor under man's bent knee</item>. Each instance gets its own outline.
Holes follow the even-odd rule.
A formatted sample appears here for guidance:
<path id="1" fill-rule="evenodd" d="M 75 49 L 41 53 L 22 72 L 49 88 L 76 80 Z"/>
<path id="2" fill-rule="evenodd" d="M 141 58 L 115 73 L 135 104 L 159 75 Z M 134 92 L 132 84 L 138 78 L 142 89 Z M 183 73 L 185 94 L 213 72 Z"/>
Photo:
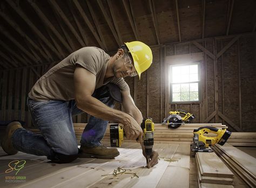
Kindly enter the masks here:
<path id="1" fill-rule="evenodd" d="M 98 147 L 86 147 L 81 145 L 78 157 L 80 158 L 102 158 L 111 159 L 119 155 L 119 151 L 116 148 L 106 148 L 104 145 L 99 145 Z"/>

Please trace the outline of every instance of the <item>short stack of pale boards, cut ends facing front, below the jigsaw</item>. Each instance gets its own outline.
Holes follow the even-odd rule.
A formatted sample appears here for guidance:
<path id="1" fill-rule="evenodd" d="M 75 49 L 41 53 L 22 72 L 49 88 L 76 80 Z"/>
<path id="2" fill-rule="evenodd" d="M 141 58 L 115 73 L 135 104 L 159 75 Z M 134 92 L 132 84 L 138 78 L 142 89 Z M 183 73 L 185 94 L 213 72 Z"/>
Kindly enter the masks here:
<path id="1" fill-rule="evenodd" d="M 197 152 L 196 169 L 199 187 L 233 187 L 234 185 L 234 174 L 214 152 Z"/>

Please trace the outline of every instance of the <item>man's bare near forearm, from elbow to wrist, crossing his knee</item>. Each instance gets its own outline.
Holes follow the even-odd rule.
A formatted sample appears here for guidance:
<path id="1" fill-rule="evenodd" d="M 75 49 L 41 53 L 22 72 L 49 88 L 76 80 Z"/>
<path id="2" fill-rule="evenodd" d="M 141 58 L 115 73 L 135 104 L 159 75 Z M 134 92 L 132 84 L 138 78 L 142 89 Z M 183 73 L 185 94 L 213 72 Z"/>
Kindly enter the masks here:
<path id="1" fill-rule="evenodd" d="M 122 124 L 127 124 L 126 122 L 129 121 L 129 118 L 127 117 L 128 114 L 110 108 L 92 96 L 88 96 L 86 100 L 77 100 L 76 102 L 79 109 L 102 120 L 114 121 Z"/>

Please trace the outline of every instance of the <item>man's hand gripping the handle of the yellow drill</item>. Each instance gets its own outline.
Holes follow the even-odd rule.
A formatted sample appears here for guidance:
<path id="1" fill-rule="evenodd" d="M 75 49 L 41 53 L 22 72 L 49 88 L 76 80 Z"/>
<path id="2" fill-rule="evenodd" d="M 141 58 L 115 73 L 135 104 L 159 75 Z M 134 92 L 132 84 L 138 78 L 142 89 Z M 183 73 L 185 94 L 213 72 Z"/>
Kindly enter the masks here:
<path id="1" fill-rule="evenodd" d="M 127 120 L 128 121 L 123 123 L 126 138 L 129 140 L 137 140 L 137 142 L 142 142 L 143 131 L 140 125 L 130 115 L 127 115 Z"/>

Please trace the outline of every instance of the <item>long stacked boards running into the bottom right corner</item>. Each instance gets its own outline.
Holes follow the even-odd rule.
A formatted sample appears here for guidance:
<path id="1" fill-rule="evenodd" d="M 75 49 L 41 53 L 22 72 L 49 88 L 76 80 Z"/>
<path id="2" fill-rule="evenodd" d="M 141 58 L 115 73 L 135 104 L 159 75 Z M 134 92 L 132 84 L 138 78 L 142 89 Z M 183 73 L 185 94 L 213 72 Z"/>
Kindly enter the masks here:
<path id="1" fill-rule="evenodd" d="M 226 143 L 212 149 L 250 187 L 256 187 L 256 158 Z"/>

